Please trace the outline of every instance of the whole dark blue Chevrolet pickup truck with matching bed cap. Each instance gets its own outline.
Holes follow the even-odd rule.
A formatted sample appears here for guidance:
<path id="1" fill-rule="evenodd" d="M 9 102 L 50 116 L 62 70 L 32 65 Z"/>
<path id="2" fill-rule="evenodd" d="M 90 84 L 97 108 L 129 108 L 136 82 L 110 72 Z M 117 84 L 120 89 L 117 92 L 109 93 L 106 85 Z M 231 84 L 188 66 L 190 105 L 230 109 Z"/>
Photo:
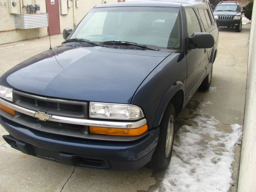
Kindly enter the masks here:
<path id="1" fill-rule="evenodd" d="M 0 78 L 6 142 L 69 165 L 166 168 L 177 115 L 210 86 L 218 29 L 209 3 L 99 5 L 63 37 Z"/>

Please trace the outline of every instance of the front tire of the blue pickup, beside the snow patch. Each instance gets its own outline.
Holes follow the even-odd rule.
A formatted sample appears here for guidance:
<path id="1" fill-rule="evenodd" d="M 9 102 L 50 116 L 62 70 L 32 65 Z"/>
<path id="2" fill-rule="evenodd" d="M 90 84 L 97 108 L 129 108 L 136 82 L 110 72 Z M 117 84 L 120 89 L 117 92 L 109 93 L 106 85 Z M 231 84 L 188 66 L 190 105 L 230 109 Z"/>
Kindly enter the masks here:
<path id="1" fill-rule="evenodd" d="M 172 121 L 173 128 L 169 127 L 169 122 Z M 172 129 L 172 133 L 167 131 Z M 170 163 L 170 158 L 172 158 L 173 142 L 174 142 L 174 130 L 175 130 L 175 108 L 172 103 L 169 103 L 167 109 L 164 112 L 161 124 L 160 133 L 157 142 L 156 150 L 152 156 L 151 161 L 146 165 L 154 171 L 162 170 L 168 167 Z M 166 138 L 172 137 L 172 141 Z M 169 137 L 168 137 L 169 138 Z M 166 145 L 166 142 L 169 143 Z M 170 146 L 167 147 L 166 146 Z"/>

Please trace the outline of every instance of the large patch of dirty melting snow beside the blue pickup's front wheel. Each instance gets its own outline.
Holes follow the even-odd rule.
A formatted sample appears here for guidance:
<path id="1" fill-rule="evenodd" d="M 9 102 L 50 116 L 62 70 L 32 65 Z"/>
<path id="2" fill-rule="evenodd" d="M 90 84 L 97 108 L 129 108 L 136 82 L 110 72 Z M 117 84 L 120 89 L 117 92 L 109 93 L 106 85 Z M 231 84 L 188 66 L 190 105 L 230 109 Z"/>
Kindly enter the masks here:
<path id="1" fill-rule="evenodd" d="M 218 129 L 215 117 L 196 110 L 177 132 L 173 156 L 157 191 L 228 191 L 232 184 L 233 148 L 242 136 L 241 125 L 230 133 Z"/>

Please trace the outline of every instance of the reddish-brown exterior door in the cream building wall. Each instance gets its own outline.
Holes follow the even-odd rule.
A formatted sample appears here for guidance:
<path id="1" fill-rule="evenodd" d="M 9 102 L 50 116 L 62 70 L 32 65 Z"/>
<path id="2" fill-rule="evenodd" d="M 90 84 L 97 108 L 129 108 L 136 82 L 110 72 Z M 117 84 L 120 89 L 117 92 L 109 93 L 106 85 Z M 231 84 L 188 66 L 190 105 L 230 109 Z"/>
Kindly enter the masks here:
<path id="1" fill-rule="evenodd" d="M 46 8 L 49 16 L 49 28 L 48 33 L 50 35 L 60 33 L 59 23 L 59 1 L 58 0 L 46 0 Z"/>

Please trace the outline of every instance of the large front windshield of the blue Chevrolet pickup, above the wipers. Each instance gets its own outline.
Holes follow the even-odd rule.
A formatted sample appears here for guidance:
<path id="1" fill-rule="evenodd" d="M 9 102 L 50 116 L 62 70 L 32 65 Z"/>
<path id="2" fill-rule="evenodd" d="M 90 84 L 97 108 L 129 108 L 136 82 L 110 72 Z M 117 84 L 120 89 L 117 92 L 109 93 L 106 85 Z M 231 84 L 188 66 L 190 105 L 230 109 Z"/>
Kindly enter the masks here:
<path id="1" fill-rule="evenodd" d="M 120 40 L 178 49 L 180 31 L 179 8 L 95 8 L 83 18 L 70 38 L 93 42 Z"/>

